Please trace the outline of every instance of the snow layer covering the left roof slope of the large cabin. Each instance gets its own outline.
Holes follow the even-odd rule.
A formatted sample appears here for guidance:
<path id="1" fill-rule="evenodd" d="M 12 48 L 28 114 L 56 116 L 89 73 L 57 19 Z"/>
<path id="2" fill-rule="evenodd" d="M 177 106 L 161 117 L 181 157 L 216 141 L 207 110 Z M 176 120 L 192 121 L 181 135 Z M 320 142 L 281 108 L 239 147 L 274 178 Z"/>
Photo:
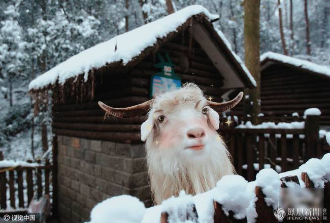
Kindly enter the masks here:
<path id="1" fill-rule="evenodd" d="M 122 61 L 123 64 L 127 64 L 139 56 L 147 47 L 153 46 L 157 39 L 177 31 L 177 28 L 185 23 L 188 18 L 201 13 L 204 13 L 210 20 L 219 17 L 211 14 L 203 6 L 186 7 L 82 51 L 32 80 L 28 88 L 29 90 L 42 88 L 54 84 L 57 80 L 59 84 L 63 84 L 68 78 L 83 73 L 86 79 L 88 71 L 92 68 L 100 68 L 114 62 Z M 115 51 L 116 46 L 117 50 Z"/>

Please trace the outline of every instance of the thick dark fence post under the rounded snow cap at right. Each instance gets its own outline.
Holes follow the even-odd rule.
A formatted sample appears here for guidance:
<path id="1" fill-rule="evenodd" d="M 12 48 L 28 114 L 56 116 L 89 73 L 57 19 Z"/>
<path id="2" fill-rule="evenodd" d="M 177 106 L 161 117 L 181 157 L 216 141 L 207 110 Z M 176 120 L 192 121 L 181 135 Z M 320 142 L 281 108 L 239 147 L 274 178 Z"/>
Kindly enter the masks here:
<path id="1" fill-rule="evenodd" d="M 320 116 L 307 115 L 305 121 L 305 161 L 316 158 L 318 131 L 320 130 Z"/>

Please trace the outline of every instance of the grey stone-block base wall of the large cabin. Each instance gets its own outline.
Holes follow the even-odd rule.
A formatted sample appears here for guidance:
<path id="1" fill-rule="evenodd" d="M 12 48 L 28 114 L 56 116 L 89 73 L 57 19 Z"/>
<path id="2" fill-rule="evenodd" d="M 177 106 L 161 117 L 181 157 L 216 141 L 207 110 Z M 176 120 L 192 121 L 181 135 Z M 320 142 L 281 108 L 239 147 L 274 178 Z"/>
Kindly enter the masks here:
<path id="1" fill-rule="evenodd" d="M 129 194 L 151 205 L 144 145 L 58 136 L 60 222 L 89 220 L 109 197 Z"/>

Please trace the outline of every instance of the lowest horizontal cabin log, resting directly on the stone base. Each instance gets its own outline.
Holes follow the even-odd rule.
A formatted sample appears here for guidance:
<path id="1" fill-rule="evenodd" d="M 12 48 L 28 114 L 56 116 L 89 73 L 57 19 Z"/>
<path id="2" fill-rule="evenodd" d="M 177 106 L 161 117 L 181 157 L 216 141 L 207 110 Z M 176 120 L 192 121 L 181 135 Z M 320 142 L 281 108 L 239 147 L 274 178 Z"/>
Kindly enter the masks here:
<path id="1" fill-rule="evenodd" d="M 112 132 L 112 131 L 79 131 L 53 128 L 57 136 L 69 136 L 91 140 L 105 140 L 116 143 L 141 144 L 141 135 L 138 132 Z"/>

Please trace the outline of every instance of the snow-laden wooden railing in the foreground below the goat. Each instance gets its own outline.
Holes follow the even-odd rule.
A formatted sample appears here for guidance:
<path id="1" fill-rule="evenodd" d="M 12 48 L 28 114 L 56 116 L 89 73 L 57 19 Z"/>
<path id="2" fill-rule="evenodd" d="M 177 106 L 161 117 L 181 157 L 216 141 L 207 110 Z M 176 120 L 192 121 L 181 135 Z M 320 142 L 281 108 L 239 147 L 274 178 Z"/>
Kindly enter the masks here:
<path id="1" fill-rule="evenodd" d="M 161 205 L 145 208 L 135 197 L 122 195 L 97 204 L 90 223 L 177 223 L 177 222 L 277 222 L 280 188 L 324 188 L 330 191 L 330 153 L 312 158 L 298 169 L 278 174 L 262 169 L 256 180 L 247 182 L 240 175 L 226 175 L 216 188 L 191 196 L 181 192 Z M 324 196 L 324 203 L 330 197 Z"/>

